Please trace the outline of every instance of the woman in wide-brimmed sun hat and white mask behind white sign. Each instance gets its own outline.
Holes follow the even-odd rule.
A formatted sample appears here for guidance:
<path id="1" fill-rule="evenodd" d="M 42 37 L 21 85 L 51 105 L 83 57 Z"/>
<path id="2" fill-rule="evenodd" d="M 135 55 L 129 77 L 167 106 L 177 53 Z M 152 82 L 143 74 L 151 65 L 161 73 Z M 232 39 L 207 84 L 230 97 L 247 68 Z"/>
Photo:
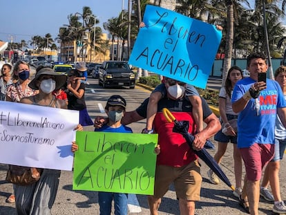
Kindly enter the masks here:
<path id="1" fill-rule="evenodd" d="M 31 97 L 23 97 L 20 102 L 67 109 L 66 102 L 57 100 L 52 94 L 55 89 L 60 88 L 65 83 L 66 75 L 55 73 L 51 68 L 40 68 L 35 78 L 28 84 L 30 88 L 39 90 L 39 93 Z M 77 131 L 83 130 L 80 124 L 75 129 Z M 39 172 L 36 173 L 39 174 Z M 17 214 L 50 214 L 55 203 L 60 174 L 61 171 L 57 169 L 42 169 L 40 178 L 36 183 L 26 186 L 14 185 Z"/>

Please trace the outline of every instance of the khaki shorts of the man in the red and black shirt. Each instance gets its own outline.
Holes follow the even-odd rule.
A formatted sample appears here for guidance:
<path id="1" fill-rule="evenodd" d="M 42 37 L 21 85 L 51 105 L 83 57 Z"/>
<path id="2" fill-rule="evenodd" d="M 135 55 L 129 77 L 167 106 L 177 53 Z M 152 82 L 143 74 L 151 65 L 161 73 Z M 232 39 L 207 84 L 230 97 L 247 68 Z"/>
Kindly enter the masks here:
<path id="1" fill-rule="evenodd" d="M 200 200 L 202 176 L 200 176 L 198 160 L 183 167 L 157 165 L 154 185 L 155 198 L 162 198 L 171 183 L 175 185 L 177 198 L 191 201 Z"/>

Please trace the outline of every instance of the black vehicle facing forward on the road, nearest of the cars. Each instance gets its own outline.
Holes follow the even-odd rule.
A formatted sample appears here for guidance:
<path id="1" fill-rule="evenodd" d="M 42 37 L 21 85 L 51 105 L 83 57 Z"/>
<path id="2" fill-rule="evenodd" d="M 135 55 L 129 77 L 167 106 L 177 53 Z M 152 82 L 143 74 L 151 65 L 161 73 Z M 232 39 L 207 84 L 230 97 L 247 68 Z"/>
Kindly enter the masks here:
<path id="1" fill-rule="evenodd" d="M 135 73 L 126 62 L 105 61 L 99 67 L 99 85 L 135 88 Z"/>

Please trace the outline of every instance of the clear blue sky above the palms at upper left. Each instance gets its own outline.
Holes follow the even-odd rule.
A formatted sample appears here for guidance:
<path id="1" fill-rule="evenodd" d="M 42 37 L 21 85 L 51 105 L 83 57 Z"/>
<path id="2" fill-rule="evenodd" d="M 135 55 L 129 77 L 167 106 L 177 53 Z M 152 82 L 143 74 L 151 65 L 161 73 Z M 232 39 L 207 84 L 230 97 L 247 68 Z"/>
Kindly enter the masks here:
<path id="1" fill-rule="evenodd" d="M 84 6 L 90 7 L 99 17 L 99 26 L 127 10 L 128 0 L 0 0 L 0 40 L 26 41 L 33 35 L 44 37 L 50 33 L 55 39 L 59 28 L 68 24 L 68 15 L 82 13 Z M 102 30 L 104 30 L 102 28 Z"/>

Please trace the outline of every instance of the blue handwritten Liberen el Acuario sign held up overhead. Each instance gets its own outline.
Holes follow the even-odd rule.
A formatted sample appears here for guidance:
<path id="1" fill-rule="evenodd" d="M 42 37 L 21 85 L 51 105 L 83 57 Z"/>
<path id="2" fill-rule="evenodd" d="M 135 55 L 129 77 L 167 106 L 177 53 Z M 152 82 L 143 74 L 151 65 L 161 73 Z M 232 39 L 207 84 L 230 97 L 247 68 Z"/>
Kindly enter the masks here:
<path id="1" fill-rule="evenodd" d="M 146 6 L 131 57 L 133 66 L 205 88 L 222 32 L 216 26 Z"/>

